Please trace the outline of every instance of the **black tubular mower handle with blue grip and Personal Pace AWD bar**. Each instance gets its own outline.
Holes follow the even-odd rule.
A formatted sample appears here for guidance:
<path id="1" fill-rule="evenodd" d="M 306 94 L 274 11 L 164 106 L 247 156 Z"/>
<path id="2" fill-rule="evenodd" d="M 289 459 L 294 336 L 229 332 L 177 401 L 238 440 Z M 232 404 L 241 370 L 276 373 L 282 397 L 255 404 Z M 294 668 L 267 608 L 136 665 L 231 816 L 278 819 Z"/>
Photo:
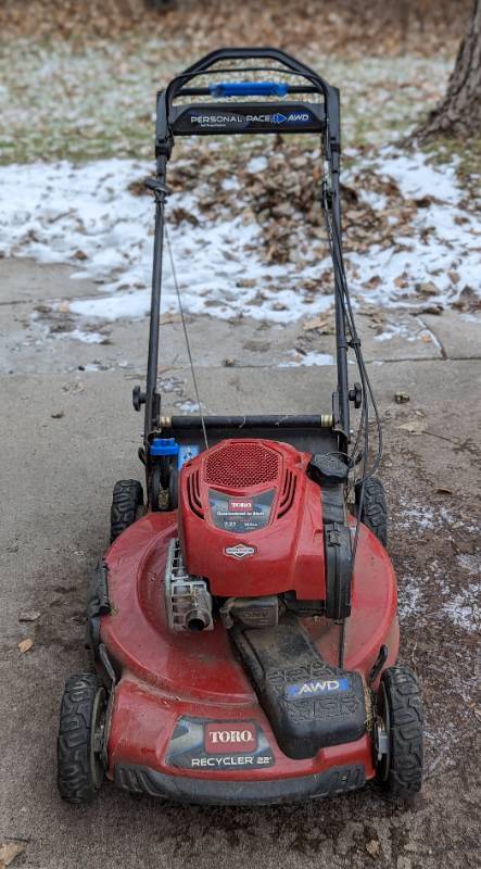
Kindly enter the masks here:
<path id="1" fill-rule="evenodd" d="M 288 85 L 287 93 L 320 93 L 322 102 L 238 102 L 238 103 L 190 103 L 173 105 L 176 97 L 210 96 L 210 88 L 186 87 L 193 78 L 201 75 L 214 75 L 226 72 L 242 73 L 242 68 L 217 68 L 215 64 L 223 61 L 237 60 L 273 60 L 281 65 L 279 72 L 284 75 L 299 76 L 305 79 L 305 85 Z M 258 68 L 260 67 L 260 68 Z M 257 72 L 269 72 L 273 67 L 264 66 L 262 63 L 254 66 Z M 244 72 L 254 72 L 252 67 L 244 67 Z M 236 83 L 235 83 L 236 84 Z M 250 96 L 248 88 L 255 88 L 257 97 L 271 96 L 265 91 L 277 83 L 237 83 L 243 84 L 244 93 Z M 221 97 L 230 97 L 229 88 L 232 83 L 224 83 L 220 87 Z M 262 90 L 264 89 L 264 93 Z M 224 92 L 223 92 L 224 90 Z M 242 90 L 242 88 L 241 88 Z M 274 96 L 274 95 L 273 95 Z M 276 96 L 279 96 L 276 95 Z M 188 66 L 183 73 L 177 75 L 169 83 L 165 90 L 157 93 L 157 115 L 156 115 L 156 136 L 155 136 L 155 156 L 156 156 L 156 180 L 154 188 L 155 194 L 155 234 L 154 234 L 154 262 L 152 270 L 152 295 L 151 295 L 151 316 L 149 331 L 149 361 L 147 371 L 145 393 L 136 396 L 136 406 L 145 404 L 145 428 L 144 428 L 144 449 L 145 455 L 149 454 L 149 438 L 159 427 L 161 412 L 161 396 L 156 389 L 157 383 L 157 360 L 159 360 L 159 335 L 160 335 L 160 304 L 161 304 L 161 284 L 162 284 L 162 260 L 163 260 L 163 238 L 164 238 L 164 204 L 166 197 L 166 172 L 167 162 L 170 158 L 174 137 L 176 135 L 212 135 L 229 133 L 320 133 L 324 137 L 324 148 L 329 165 L 329 178 L 325 182 L 324 200 L 326 207 L 329 207 L 332 215 L 332 226 L 338 245 L 341 243 L 341 205 L 340 205 L 340 97 L 339 90 L 329 85 L 325 78 L 319 76 L 306 64 L 292 58 L 286 51 L 275 48 L 223 48 L 211 51 L 204 58 Z M 350 440 L 350 406 L 349 406 L 349 378 L 347 378 L 347 340 L 345 332 L 345 311 L 343 307 L 343 287 L 342 274 L 339 266 L 342 264 L 342 252 L 338 251 L 334 262 L 334 282 L 336 282 L 336 333 L 337 333 L 337 363 L 338 363 L 338 389 L 333 393 L 333 431 L 339 434 L 339 449 L 346 452 Z"/>

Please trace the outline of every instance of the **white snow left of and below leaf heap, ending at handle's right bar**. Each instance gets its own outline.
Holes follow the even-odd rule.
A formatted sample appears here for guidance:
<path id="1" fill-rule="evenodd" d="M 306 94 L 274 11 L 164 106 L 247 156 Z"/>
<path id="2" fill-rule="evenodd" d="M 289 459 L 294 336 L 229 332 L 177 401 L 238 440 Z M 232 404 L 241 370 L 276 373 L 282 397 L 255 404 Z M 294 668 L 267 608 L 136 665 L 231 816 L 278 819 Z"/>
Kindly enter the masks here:
<path id="1" fill-rule="evenodd" d="M 123 160 L 79 167 L 62 162 L 0 168 L 0 253 L 72 263 L 72 277 L 96 280 L 103 295 L 72 302 L 74 313 L 111 320 L 143 317 L 150 308 L 154 206 L 149 196 L 135 196 L 127 188 L 151 169 L 150 164 Z M 167 217 L 176 207 L 199 222 L 169 227 L 189 313 L 288 323 L 332 304 L 330 295 L 313 304 L 296 290 L 295 266 L 262 261 L 256 224 L 245 225 L 239 217 L 206 222 L 190 194 L 173 194 Z M 313 274 L 306 268 L 301 276 Z M 163 310 L 176 308 L 165 255 Z"/>

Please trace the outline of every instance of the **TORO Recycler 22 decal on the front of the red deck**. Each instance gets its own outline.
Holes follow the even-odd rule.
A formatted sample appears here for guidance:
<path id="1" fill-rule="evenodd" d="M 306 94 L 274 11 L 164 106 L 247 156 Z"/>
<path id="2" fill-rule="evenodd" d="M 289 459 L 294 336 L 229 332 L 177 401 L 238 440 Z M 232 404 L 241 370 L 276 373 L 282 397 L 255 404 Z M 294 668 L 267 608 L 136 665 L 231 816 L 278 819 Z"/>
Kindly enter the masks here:
<path id="1" fill-rule="evenodd" d="M 275 758 L 255 721 L 212 721 L 183 716 L 177 721 L 166 763 L 181 769 L 221 772 L 271 767 Z"/>

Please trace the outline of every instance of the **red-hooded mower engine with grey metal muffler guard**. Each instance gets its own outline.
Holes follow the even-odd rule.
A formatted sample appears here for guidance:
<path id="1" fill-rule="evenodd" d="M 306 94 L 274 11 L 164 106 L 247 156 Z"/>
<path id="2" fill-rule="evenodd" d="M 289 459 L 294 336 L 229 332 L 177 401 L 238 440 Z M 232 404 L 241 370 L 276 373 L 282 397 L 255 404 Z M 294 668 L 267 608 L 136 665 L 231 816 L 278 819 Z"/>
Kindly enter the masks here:
<path id="1" fill-rule="evenodd" d="M 165 575 L 172 630 L 275 627 L 325 613 L 319 486 L 287 443 L 226 440 L 187 462 Z M 313 594 L 314 591 L 314 594 Z"/>

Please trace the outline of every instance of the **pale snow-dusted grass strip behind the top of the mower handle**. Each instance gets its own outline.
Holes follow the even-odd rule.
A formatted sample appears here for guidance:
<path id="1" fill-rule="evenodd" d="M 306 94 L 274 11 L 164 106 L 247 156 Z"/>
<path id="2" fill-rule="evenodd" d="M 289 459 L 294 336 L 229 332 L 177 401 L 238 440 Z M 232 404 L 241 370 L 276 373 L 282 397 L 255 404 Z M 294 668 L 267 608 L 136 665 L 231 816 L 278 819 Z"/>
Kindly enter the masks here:
<path id="1" fill-rule="evenodd" d="M 75 50 L 12 40 L 0 53 L 0 163 L 152 156 L 155 91 L 181 65 L 178 46 L 134 34 Z M 341 87 L 344 147 L 406 135 L 444 90 L 452 59 L 311 59 Z M 181 149 L 179 149 L 181 150 Z"/>

